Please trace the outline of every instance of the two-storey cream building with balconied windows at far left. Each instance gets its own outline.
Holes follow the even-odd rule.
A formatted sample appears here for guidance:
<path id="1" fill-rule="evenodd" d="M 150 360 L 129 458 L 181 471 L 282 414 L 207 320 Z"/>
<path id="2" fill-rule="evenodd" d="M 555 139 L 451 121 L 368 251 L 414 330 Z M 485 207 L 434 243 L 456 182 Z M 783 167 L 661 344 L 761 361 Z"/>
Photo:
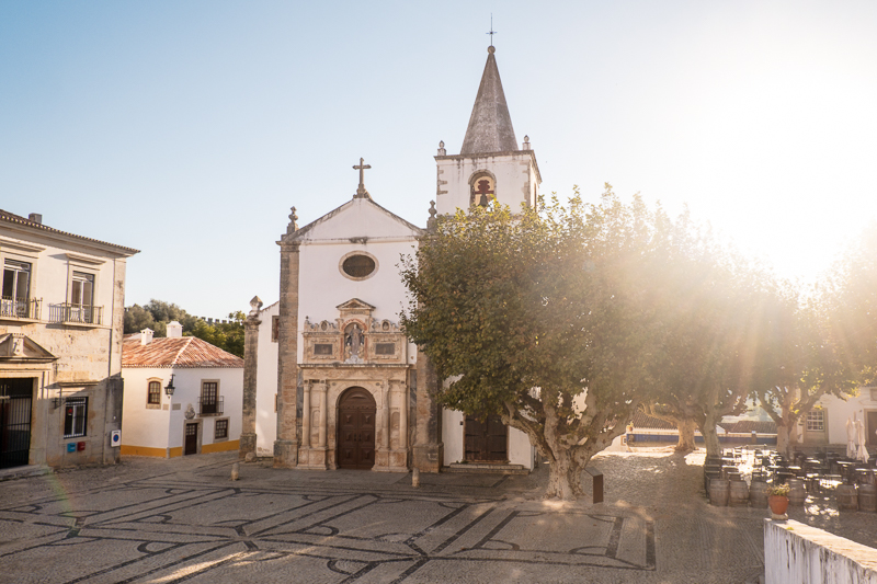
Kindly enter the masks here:
<path id="1" fill-rule="evenodd" d="M 135 253 L 0 210 L 0 469 L 118 461 Z"/>

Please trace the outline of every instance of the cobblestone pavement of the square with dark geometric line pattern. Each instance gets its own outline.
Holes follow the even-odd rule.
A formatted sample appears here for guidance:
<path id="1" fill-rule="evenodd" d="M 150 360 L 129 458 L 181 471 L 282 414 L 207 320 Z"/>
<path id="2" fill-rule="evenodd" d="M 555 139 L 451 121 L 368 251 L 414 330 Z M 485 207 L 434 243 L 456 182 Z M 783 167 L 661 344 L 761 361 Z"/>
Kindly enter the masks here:
<path id="1" fill-rule="evenodd" d="M 0 582 L 696 582 L 763 573 L 766 509 L 710 507 L 703 451 L 604 454 L 605 502 L 526 477 L 271 469 L 127 457 L 0 483 Z M 819 503 L 811 505 L 819 507 Z M 877 546 L 877 516 L 800 509 Z M 845 534 L 842 534 L 845 535 Z M 845 535 L 845 537 L 850 537 Z"/>

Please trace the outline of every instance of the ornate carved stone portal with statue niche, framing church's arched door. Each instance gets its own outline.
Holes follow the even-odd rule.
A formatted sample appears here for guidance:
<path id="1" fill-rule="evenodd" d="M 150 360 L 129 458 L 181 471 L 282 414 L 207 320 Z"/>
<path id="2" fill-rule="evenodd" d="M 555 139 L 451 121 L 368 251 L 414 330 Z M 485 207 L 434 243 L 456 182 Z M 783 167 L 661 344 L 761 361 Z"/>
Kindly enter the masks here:
<path id="1" fill-rule="evenodd" d="M 408 471 L 408 341 L 397 323 L 373 319 L 374 309 L 353 298 L 338 307 L 333 321 L 304 322 L 300 468 L 338 468 L 339 399 L 362 388 L 375 400 L 375 432 L 345 439 L 374 440 L 363 445 L 375 453 L 372 470 Z"/>

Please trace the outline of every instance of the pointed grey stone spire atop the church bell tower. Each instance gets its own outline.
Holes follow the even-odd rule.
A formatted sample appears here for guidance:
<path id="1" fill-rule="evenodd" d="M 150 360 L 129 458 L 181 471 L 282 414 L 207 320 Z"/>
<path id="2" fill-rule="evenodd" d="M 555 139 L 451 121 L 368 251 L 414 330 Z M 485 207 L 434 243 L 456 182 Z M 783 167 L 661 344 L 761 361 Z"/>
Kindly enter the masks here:
<path id="1" fill-rule="evenodd" d="M 478 96 L 475 99 L 460 154 L 517 150 L 512 117 L 509 115 L 509 106 L 505 105 L 500 70 L 493 56 L 496 50 L 492 46 L 487 49 L 487 65 L 481 76 L 481 84 L 478 87 Z"/>

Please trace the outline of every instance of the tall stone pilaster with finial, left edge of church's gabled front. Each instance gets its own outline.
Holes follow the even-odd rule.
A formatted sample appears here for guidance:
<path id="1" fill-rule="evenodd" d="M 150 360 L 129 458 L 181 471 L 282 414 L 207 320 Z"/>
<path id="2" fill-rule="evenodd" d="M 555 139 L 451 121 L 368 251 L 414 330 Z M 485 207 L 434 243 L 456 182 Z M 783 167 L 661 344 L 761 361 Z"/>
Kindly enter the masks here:
<path id="1" fill-rule="evenodd" d="M 291 218 L 295 217 L 295 210 Z M 293 219 L 294 224 L 295 219 Z M 293 226 L 291 224 L 291 227 Z M 287 236 L 288 237 L 288 236 Z M 281 245 L 280 336 L 277 339 L 277 439 L 274 467 L 298 465 L 298 243 Z"/>

